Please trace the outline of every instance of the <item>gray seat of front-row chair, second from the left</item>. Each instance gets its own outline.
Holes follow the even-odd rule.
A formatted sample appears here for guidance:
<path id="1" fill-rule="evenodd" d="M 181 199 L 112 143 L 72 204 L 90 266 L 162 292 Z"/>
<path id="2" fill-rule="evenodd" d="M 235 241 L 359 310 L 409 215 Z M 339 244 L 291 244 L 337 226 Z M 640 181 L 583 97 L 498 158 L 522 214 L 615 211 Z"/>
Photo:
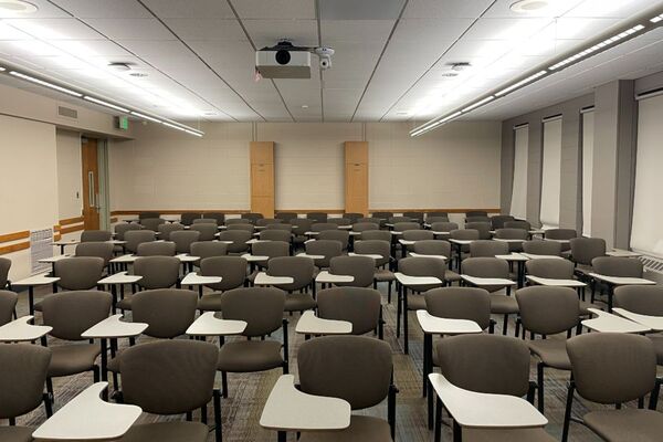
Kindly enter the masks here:
<path id="1" fill-rule="evenodd" d="M 134 425 L 122 442 L 206 442 L 209 429 L 200 422 L 157 422 Z"/>

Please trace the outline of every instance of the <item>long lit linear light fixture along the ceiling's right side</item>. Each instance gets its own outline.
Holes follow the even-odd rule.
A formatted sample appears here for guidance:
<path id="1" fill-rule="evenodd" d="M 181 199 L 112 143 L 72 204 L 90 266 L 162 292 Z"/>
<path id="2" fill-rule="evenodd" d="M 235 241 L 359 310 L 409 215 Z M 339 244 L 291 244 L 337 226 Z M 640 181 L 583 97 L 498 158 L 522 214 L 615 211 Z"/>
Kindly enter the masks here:
<path id="1" fill-rule="evenodd" d="M 661 10 L 659 10 L 657 12 L 661 12 Z M 638 36 L 641 33 L 649 32 L 655 28 L 663 25 L 663 13 L 659 13 L 648 20 L 648 17 L 651 17 L 650 13 L 640 15 L 640 18 L 638 20 L 632 21 L 631 24 L 629 24 L 628 27 L 622 28 L 619 31 L 615 31 L 613 35 L 611 35 L 609 38 L 602 38 L 601 40 L 598 40 L 598 41 L 593 41 L 586 49 L 583 49 L 572 55 L 568 55 L 561 60 L 557 60 L 554 63 L 551 63 L 548 67 L 541 69 L 543 67 L 541 66 L 538 70 L 536 70 L 534 73 L 529 73 L 525 77 L 523 77 L 520 80 L 516 80 L 516 81 L 512 82 L 511 84 L 503 86 L 497 92 L 493 92 L 490 95 L 487 95 L 481 99 L 477 99 L 476 102 L 474 102 L 470 105 L 465 105 L 465 107 L 461 108 L 460 110 L 455 110 L 450 114 L 440 116 L 438 118 L 433 118 L 422 125 L 414 127 L 412 130 L 410 130 L 410 136 L 417 137 L 419 135 L 425 134 L 429 130 L 433 130 L 433 129 L 440 127 L 441 125 L 449 123 L 452 119 L 457 118 L 459 116 L 461 116 L 465 113 L 472 112 L 481 106 L 484 106 L 487 103 L 493 102 L 494 99 L 502 98 L 503 96 L 508 95 L 509 93 L 512 93 L 514 91 L 517 91 L 522 87 L 530 85 L 541 78 L 548 77 L 548 76 L 550 76 L 557 72 L 560 72 L 564 69 L 569 67 L 576 63 L 579 63 L 590 56 L 597 55 L 603 51 L 612 49 L 612 48 L 617 46 L 618 44 L 621 44 L 632 38 Z"/>

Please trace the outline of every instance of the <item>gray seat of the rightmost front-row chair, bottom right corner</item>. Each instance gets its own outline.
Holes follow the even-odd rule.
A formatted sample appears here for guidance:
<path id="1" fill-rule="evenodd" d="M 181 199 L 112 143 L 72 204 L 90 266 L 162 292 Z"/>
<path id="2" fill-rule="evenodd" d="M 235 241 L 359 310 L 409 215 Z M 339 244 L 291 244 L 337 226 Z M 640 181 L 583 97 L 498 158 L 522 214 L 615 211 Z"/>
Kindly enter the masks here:
<path id="1" fill-rule="evenodd" d="M 591 411 L 585 424 L 604 441 L 654 442 L 663 434 L 663 413 L 653 410 L 621 409 Z"/>

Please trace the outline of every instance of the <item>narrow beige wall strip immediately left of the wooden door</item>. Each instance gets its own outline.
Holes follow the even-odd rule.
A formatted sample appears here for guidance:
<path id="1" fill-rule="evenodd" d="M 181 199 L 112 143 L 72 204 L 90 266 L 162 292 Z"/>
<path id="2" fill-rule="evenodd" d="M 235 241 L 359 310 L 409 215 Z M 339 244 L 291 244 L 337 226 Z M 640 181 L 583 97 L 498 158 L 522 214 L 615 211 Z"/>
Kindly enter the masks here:
<path id="1" fill-rule="evenodd" d="M 57 156 L 57 196 L 60 219 L 81 217 L 83 209 L 83 182 L 81 166 L 81 134 L 57 129 L 55 133 Z"/>

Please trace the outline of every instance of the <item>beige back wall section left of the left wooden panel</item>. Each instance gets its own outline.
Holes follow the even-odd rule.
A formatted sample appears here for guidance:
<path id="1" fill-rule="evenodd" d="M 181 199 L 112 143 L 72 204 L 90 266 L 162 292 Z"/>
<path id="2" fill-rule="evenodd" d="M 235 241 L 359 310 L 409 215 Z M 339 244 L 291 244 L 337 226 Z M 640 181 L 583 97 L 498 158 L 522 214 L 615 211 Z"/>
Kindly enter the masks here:
<path id="1" fill-rule="evenodd" d="M 251 124 L 213 124 L 198 138 L 155 124 L 108 145 L 110 210 L 248 209 Z"/>

